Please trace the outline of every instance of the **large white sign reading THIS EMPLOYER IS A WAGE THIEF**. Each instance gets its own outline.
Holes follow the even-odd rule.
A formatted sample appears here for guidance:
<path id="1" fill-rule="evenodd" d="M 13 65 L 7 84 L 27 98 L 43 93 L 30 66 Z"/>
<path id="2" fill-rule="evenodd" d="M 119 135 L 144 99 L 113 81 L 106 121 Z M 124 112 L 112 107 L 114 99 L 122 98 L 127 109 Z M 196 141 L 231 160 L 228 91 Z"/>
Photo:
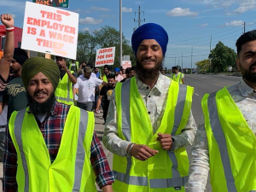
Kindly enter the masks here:
<path id="1" fill-rule="evenodd" d="M 26 2 L 21 49 L 77 57 L 79 14 Z"/>

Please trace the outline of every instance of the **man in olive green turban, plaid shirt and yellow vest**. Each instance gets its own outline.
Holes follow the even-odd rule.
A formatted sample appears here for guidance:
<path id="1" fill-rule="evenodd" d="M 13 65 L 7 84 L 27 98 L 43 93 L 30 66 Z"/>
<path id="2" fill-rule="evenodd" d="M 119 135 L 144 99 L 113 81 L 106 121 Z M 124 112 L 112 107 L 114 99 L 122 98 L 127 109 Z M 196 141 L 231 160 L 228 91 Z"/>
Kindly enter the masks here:
<path id="1" fill-rule="evenodd" d="M 96 178 L 102 191 L 112 192 L 113 173 L 94 133 L 94 113 L 55 99 L 61 78 L 55 61 L 32 57 L 21 77 L 29 107 L 9 119 L 4 191 L 96 191 Z"/>

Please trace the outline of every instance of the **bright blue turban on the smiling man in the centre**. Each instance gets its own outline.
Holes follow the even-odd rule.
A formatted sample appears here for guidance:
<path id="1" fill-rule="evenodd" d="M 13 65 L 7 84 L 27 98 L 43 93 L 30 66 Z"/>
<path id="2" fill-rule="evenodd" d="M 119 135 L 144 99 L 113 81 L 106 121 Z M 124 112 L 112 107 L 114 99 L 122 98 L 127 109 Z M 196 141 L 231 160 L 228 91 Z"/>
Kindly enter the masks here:
<path id="1" fill-rule="evenodd" d="M 135 53 L 137 54 L 137 48 L 142 44 L 144 39 L 154 39 L 163 51 L 163 55 L 166 55 L 166 48 L 168 44 L 168 34 L 166 30 L 155 23 L 147 23 L 140 26 L 133 32 L 131 37 L 131 46 Z"/>

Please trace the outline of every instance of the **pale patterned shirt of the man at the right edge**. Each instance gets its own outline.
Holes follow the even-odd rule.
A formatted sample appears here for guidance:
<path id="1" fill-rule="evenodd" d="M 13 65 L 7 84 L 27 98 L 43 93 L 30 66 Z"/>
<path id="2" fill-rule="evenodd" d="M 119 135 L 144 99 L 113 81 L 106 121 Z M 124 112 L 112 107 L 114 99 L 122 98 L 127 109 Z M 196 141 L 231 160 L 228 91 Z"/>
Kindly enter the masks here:
<path id="1" fill-rule="evenodd" d="M 236 102 L 236 106 L 246 119 L 247 125 L 256 136 L 256 93 L 242 78 L 239 83 L 227 89 L 234 102 Z M 187 192 L 203 192 L 206 189 L 208 172 L 210 170 L 207 132 L 203 117 L 196 132 L 195 141 L 191 150 L 191 158 L 189 182 L 185 185 L 185 189 Z"/>

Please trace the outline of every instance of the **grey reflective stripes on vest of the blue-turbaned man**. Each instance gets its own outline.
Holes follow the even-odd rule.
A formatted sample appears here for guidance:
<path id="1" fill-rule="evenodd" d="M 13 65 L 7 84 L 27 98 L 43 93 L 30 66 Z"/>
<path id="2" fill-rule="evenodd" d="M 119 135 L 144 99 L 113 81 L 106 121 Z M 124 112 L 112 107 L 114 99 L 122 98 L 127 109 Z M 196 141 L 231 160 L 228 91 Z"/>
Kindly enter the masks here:
<path id="1" fill-rule="evenodd" d="M 122 106 L 122 133 L 126 141 L 131 142 L 131 119 L 130 119 L 130 87 L 131 79 L 126 80 L 125 84 L 122 84 L 121 89 L 121 106 Z M 183 108 L 186 101 L 187 87 L 179 86 L 179 92 L 177 96 L 177 103 L 179 104 L 175 108 L 175 120 L 172 129 L 172 135 L 175 135 L 177 129 L 183 118 Z M 128 118 L 128 119 L 127 119 Z M 172 160 L 172 178 L 162 179 L 150 179 L 150 188 L 171 188 L 177 186 L 183 186 L 187 181 L 188 177 L 180 177 L 177 171 L 177 157 L 172 151 L 167 151 L 170 159 Z M 134 184 L 138 186 L 148 186 L 148 177 L 135 177 L 130 176 L 131 170 L 131 157 L 126 157 L 127 167 L 126 173 L 116 172 L 116 179 L 126 183 Z"/>

